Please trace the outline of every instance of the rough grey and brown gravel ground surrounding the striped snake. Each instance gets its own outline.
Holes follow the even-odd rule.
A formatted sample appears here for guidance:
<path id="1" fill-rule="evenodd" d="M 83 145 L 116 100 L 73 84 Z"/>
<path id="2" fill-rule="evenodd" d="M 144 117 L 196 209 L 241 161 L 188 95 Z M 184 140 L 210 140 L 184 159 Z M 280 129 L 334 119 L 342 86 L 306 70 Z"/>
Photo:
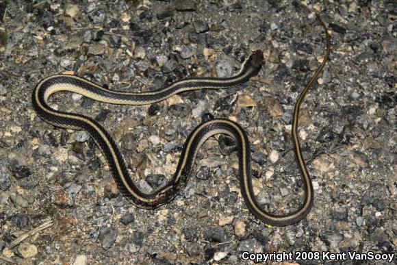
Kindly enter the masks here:
<path id="1" fill-rule="evenodd" d="M 395 1 L 96 2 L 0 1 L 0 264 L 241 264 L 243 251 L 396 253 Z M 60 93 L 51 104 L 100 121 L 146 192 L 172 176 L 196 125 L 231 118 L 251 141 L 258 200 L 287 214 L 303 197 L 292 110 L 325 48 L 314 12 L 329 26 L 332 48 L 300 118 L 316 199 L 296 225 L 268 227 L 248 212 L 238 156 L 222 155 L 230 153 L 228 138 L 204 144 L 174 201 L 140 210 L 118 192 L 84 131 L 53 127 L 31 109 L 32 89 L 55 73 L 147 91 L 188 76 L 230 76 L 262 49 L 266 64 L 238 88 L 147 106 Z M 47 220 L 51 227 L 12 246 Z"/>

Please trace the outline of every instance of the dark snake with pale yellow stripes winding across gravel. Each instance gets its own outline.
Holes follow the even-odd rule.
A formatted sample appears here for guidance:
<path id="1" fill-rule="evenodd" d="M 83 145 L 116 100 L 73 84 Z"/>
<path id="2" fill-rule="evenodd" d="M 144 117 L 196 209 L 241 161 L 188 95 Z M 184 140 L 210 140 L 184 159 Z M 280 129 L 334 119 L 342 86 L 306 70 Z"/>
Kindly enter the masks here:
<path id="1" fill-rule="evenodd" d="M 300 169 L 300 176 L 303 181 L 305 197 L 298 210 L 285 215 L 272 214 L 264 209 L 258 202 L 253 192 L 253 181 L 251 175 L 251 147 L 248 136 L 238 123 L 225 118 L 214 118 L 198 125 L 188 136 L 177 164 L 175 174 L 162 188 L 151 193 L 142 192 L 127 171 L 123 156 L 118 149 L 116 142 L 110 134 L 94 119 L 82 114 L 62 112 L 55 110 L 49 105 L 49 98 L 52 94 L 60 91 L 75 92 L 95 101 L 120 105 L 148 105 L 163 101 L 174 94 L 190 90 L 222 89 L 231 86 L 239 86 L 246 83 L 251 77 L 258 75 L 261 66 L 264 64 L 264 53 L 261 50 L 253 52 L 240 67 L 240 71 L 231 77 L 190 77 L 175 81 L 174 83 L 158 90 L 149 92 L 125 92 L 111 90 L 100 86 L 77 75 L 51 75 L 42 79 L 34 88 L 31 102 L 36 114 L 45 122 L 66 129 L 84 130 L 94 140 L 97 147 L 105 157 L 110 168 L 114 181 L 121 194 L 137 207 L 153 209 L 164 205 L 174 199 L 187 184 L 188 178 L 192 175 L 196 154 L 203 143 L 216 134 L 225 134 L 235 140 L 238 152 L 239 179 L 241 194 L 248 207 L 248 210 L 267 225 L 285 226 L 292 225 L 302 220 L 310 212 L 313 205 L 313 185 L 305 160 L 300 150 L 300 143 L 297 134 L 300 105 L 305 99 L 309 88 L 318 78 L 329 57 L 330 36 L 326 26 L 318 16 L 324 31 L 326 32 L 326 54 L 324 60 L 307 86 L 300 92 L 296 100 L 292 121 L 292 142 L 296 162 Z"/>

